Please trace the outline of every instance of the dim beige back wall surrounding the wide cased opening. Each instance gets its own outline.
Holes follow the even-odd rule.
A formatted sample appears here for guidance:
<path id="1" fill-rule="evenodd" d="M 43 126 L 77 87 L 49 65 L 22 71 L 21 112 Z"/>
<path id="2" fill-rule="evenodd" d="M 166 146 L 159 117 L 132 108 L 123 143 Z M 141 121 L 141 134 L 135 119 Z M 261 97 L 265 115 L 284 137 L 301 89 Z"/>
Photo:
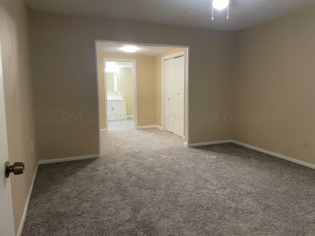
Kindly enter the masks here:
<path id="1" fill-rule="evenodd" d="M 40 123 L 40 158 L 98 152 L 97 123 L 88 121 L 90 113 L 97 113 L 95 39 L 190 46 L 190 112 L 200 118 L 203 114 L 209 116 L 220 110 L 222 118 L 226 109 L 232 109 L 234 37 L 231 32 L 38 11 L 31 11 L 31 19 L 36 109 L 72 109 L 75 112 L 83 109 L 85 113 L 81 123 Z M 155 60 L 152 60 L 154 64 Z M 150 80 L 137 83 L 137 89 L 138 86 L 146 86 Z M 148 97 L 155 92 L 155 89 L 146 89 L 143 94 L 137 93 L 138 101 L 146 99 L 146 109 L 154 112 L 156 99 Z M 139 123 L 146 124 L 154 122 L 149 119 Z M 224 123 L 222 119 L 217 122 L 193 120 L 189 124 L 189 137 L 190 143 L 230 139 L 231 124 Z"/>

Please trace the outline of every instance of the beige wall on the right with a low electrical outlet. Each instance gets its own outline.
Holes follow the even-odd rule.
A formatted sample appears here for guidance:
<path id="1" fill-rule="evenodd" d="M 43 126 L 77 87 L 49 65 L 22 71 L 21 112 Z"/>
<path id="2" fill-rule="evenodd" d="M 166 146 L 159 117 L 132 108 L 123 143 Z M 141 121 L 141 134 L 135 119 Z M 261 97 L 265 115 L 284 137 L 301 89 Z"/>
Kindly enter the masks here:
<path id="1" fill-rule="evenodd" d="M 312 8 L 236 33 L 234 140 L 315 164 L 314 22 Z"/>

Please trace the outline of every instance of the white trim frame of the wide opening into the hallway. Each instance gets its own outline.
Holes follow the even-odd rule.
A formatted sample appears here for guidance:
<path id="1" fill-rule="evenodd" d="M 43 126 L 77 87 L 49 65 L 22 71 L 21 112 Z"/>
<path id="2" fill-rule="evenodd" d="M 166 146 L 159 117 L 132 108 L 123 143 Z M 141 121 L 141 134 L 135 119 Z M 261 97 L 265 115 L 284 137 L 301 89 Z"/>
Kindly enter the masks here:
<path id="1" fill-rule="evenodd" d="M 132 44 L 132 45 L 144 45 L 144 46 L 160 46 L 160 47 L 172 47 L 172 48 L 185 48 L 187 49 L 187 63 L 185 64 L 186 66 L 186 103 L 187 103 L 187 108 L 186 108 L 186 146 L 189 145 L 189 46 L 186 45 L 171 45 L 171 44 L 156 44 L 156 43 L 139 43 L 139 42 L 126 42 L 126 41 L 115 41 L 115 40 L 103 40 L 103 39 L 95 39 L 94 40 L 94 48 L 95 48 L 95 71 L 96 71 L 96 95 L 97 95 L 97 113 L 98 113 L 98 154 L 100 155 L 100 119 L 99 119 L 99 92 L 98 92 L 98 72 L 97 72 L 97 48 L 96 48 L 96 43 L 97 42 L 105 42 L 105 43 L 119 43 L 119 44 Z M 163 86 L 163 85 L 162 85 Z M 107 102 L 106 102 L 107 105 Z M 107 109 L 107 108 L 106 108 Z M 163 113 L 163 108 L 162 108 L 162 113 Z M 162 114 L 163 117 L 163 114 Z M 106 127 L 107 128 L 107 127 Z"/>

